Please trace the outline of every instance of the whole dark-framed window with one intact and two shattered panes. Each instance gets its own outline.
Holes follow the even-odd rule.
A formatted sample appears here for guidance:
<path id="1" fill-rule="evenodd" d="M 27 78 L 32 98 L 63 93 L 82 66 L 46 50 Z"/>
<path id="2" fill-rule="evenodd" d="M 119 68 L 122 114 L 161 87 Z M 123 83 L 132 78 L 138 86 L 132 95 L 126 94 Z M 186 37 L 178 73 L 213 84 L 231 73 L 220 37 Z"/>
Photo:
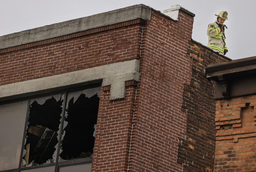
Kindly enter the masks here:
<path id="1" fill-rule="evenodd" d="M 99 93 L 97 85 L 1 104 L 0 171 L 91 171 Z"/>

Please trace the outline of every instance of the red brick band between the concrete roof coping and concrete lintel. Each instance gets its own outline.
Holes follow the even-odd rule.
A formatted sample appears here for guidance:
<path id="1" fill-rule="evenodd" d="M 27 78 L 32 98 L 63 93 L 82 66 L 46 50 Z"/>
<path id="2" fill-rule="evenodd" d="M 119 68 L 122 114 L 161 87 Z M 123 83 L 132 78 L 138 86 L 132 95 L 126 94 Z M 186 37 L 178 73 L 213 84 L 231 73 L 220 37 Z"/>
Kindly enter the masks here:
<path id="1" fill-rule="evenodd" d="M 140 22 L 0 50 L 0 85 L 139 58 Z"/>

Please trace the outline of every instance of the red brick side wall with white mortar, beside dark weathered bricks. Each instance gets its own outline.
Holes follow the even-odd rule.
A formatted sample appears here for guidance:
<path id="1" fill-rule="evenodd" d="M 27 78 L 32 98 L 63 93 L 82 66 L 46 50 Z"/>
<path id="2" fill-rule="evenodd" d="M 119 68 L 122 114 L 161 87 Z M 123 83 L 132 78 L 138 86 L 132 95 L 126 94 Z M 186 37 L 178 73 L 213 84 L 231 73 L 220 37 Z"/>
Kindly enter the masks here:
<path id="1" fill-rule="evenodd" d="M 181 104 L 183 85 L 191 79 L 186 54 L 193 17 L 181 15 L 174 22 L 153 11 L 144 26 L 129 171 L 182 171 L 176 159 L 186 130 Z"/>

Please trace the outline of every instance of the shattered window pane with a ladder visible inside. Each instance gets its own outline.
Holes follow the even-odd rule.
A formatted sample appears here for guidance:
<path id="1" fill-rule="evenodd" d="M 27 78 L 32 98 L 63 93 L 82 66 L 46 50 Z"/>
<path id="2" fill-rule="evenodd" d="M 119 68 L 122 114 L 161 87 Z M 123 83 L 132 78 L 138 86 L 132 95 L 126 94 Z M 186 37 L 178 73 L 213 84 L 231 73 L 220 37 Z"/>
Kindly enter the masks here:
<path id="1" fill-rule="evenodd" d="M 55 163 L 62 108 L 62 94 L 30 101 L 21 167 Z"/>

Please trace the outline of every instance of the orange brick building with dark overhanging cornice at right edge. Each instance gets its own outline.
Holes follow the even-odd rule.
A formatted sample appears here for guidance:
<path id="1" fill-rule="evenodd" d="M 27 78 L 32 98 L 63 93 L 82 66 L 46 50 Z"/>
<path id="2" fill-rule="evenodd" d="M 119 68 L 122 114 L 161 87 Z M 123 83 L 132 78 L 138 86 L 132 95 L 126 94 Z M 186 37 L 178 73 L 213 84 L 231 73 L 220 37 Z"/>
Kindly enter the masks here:
<path id="1" fill-rule="evenodd" d="M 256 171 L 256 57 L 211 64 L 216 99 L 214 172 Z"/>

